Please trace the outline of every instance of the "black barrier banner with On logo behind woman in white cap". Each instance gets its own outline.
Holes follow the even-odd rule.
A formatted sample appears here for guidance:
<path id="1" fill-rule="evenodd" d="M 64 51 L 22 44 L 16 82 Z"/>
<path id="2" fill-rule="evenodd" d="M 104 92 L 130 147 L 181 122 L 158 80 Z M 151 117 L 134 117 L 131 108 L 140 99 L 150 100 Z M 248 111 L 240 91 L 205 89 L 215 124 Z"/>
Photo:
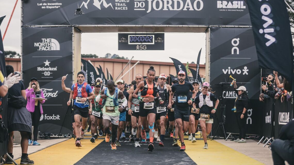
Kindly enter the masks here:
<path id="1" fill-rule="evenodd" d="M 255 134 L 262 135 L 262 128 L 256 127 L 258 125 L 262 125 L 262 104 L 260 104 L 259 100 L 249 100 L 250 107 L 245 113 L 246 119 L 246 134 Z M 239 128 L 237 124 L 237 118 L 231 109 L 235 105 L 235 100 L 228 99 L 225 102 L 225 130 L 230 133 L 239 133 Z M 213 123 L 214 119 L 213 119 Z M 218 124 L 218 123 L 217 123 Z M 217 125 L 215 124 L 215 125 Z M 220 134 L 222 135 L 222 134 Z"/>

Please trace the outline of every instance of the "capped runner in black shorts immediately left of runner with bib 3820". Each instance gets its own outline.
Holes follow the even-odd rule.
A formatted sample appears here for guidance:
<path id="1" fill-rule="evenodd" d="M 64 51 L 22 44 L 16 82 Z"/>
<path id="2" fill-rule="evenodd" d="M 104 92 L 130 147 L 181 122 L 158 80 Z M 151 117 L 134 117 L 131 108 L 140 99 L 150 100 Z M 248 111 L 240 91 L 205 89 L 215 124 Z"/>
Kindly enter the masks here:
<path id="1" fill-rule="evenodd" d="M 101 89 L 101 83 L 96 82 L 94 85 L 94 95 L 95 98 L 99 95 Z M 91 134 L 92 137 L 90 141 L 92 143 L 95 143 L 95 140 L 98 140 L 97 137 L 97 129 L 99 131 L 99 136 L 103 134 L 102 132 L 102 102 L 96 102 L 96 99 L 91 100 L 92 104 L 92 114 L 90 115 L 91 120 Z M 98 128 L 97 128 L 98 126 Z"/>

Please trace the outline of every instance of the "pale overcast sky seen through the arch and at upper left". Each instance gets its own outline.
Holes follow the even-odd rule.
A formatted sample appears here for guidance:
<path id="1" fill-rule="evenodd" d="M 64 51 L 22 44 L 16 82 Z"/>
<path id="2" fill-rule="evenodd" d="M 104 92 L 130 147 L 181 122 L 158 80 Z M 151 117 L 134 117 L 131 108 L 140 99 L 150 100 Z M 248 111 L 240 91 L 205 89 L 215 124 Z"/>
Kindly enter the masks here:
<path id="1" fill-rule="evenodd" d="M 9 17 L 13 10 L 14 0 L 0 0 L 0 17 L 6 15 L 0 28 L 4 35 Z M 9 28 L 4 38 L 4 50 L 21 53 L 21 1 L 16 5 Z M 205 33 L 165 33 L 165 50 L 118 50 L 118 33 L 82 33 L 82 54 L 96 54 L 104 57 L 106 53 L 117 54 L 133 60 L 172 62 L 169 57 L 182 63 L 197 61 L 201 51 L 200 64 L 205 63 Z M 148 58 L 146 58 L 148 57 Z"/>

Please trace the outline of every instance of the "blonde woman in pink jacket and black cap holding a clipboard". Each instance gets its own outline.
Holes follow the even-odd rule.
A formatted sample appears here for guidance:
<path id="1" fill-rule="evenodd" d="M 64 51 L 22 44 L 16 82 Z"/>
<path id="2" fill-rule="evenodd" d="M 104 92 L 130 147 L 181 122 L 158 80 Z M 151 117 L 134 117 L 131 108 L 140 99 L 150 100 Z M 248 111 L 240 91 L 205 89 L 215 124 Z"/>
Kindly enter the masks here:
<path id="1" fill-rule="evenodd" d="M 43 91 L 40 89 L 39 83 L 36 78 L 31 78 L 31 82 L 29 83 L 29 87 L 26 89 L 26 109 L 31 112 L 32 125 L 34 126 L 34 142 L 29 137 L 29 145 L 33 143 L 33 145 L 40 145 L 37 142 L 38 137 L 38 127 L 40 122 L 41 114 L 43 114 L 42 104 L 45 100 L 35 100 L 33 98 L 45 98 Z"/>

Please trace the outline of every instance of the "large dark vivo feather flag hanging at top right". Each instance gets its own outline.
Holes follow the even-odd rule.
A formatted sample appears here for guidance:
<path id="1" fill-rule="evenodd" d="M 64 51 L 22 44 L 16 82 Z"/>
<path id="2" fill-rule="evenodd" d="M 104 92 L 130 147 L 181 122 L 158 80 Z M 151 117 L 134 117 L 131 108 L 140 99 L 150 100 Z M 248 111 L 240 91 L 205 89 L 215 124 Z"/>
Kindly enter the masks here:
<path id="1" fill-rule="evenodd" d="M 247 0 L 258 64 L 293 81 L 293 43 L 285 1 Z M 293 82 L 292 82 L 293 83 Z"/>

